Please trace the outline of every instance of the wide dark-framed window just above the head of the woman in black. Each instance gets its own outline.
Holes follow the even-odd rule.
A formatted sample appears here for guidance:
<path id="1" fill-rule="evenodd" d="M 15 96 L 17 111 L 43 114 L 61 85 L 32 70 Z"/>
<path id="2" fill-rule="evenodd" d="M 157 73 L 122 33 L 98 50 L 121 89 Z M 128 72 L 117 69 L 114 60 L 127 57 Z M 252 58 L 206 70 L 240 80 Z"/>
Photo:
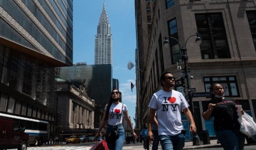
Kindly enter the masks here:
<path id="1" fill-rule="evenodd" d="M 211 92 L 210 87 L 213 83 L 219 83 L 223 86 L 225 96 L 239 97 L 237 79 L 235 76 L 204 77 L 205 92 Z"/>

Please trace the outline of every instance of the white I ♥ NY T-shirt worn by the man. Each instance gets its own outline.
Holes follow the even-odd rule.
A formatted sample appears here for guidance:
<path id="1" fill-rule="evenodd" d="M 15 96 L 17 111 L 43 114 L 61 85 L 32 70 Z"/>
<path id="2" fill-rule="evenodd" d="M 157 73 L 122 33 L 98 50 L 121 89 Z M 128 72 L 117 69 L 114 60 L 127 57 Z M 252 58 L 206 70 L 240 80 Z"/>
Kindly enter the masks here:
<path id="1" fill-rule="evenodd" d="M 181 109 L 189 107 L 189 104 L 180 92 L 160 90 L 154 93 L 148 107 L 157 111 L 159 135 L 174 136 L 184 129 L 181 123 Z"/>

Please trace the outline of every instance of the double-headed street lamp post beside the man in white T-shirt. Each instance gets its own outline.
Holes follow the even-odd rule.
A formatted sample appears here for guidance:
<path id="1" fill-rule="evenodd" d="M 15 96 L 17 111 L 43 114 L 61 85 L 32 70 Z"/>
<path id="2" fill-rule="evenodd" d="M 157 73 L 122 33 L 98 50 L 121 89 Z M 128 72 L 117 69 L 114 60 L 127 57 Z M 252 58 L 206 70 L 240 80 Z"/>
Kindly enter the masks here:
<path id="1" fill-rule="evenodd" d="M 178 42 L 179 49 L 181 51 L 181 60 L 184 62 L 184 68 L 183 69 L 184 69 L 184 73 L 185 73 L 185 79 L 186 79 L 187 88 L 190 88 L 190 82 L 189 82 L 189 77 L 188 77 L 188 66 L 187 66 L 188 65 L 188 63 L 187 63 L 188 62 L 188 55 L 187 55 L 186 44 L 188 42 L 188 39 L 190 39 L 192 36 L 197 36 L 195 42 L 201 44 L 202 38 L 199 36 L 198 33 L 195 33 L 195 34 L 189 36 L 186 39 L 185 47 L 181 46 L 180 42 L 176 38 L 174 38 L 172 36 L 165 36 L 164 37 L 164 39 L 165 39 L 164 46 L 167 47 L 167 48 L 169 47 L 169 41 L 167 40 L 167 38 L 174 39 L 175 41 Z M 189 98 L 190 104 L 191 104 L 191 113 L 192 113 L 193 118 L 194 118 L 194 104 L 193 104 L 190 92 L 188 92 L 188 98 Z M 196 137 L 198 137 L 198 135 L 196 135 L 196 134 L 193 135 L 193 145 L 196 145 Z"/>

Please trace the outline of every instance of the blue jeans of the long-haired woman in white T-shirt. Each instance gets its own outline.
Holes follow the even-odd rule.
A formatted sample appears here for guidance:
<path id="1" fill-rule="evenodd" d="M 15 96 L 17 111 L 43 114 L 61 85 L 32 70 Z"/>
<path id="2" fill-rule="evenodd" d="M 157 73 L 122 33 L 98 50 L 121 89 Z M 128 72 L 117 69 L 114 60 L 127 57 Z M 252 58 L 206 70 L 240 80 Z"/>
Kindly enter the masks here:
<path id="1" fill-rule="evenodd" d="M 125 141 L 125 130 L 123 129 L 123 124 L 119 124 L 116 126 L 107 125 L 107 134 L 110 133 L 113 129 L 117 130 L 118 128 L 118 135 L 119 138 L 115 143 L 107 143 L 107 146 L 109 147 L 109 150 L 122 150 L 123 149 L 123 143 Z"/>

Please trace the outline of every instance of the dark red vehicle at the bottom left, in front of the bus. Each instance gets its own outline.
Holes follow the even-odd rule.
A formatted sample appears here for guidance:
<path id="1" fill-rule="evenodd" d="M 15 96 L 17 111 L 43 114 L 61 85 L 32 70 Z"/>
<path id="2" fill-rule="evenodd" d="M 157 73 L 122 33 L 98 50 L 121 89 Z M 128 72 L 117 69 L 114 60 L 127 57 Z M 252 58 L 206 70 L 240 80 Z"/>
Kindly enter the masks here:
<path id="1" fill-rule="evenodd" d="M 15 120 L 0 118 L 0 149 L 26 150 L 29 135 L 24 131 L 25 128 L 21 128 Z"/>

